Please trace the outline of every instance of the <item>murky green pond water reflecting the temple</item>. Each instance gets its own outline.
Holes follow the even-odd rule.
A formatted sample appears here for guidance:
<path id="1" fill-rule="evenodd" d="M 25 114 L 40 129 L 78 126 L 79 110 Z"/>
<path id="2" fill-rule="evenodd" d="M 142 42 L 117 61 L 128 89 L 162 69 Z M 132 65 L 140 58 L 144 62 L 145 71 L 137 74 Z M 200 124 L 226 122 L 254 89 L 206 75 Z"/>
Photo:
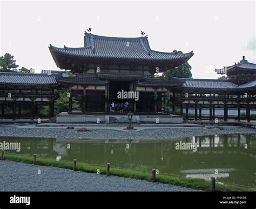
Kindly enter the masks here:
<path id="1" fill-rule="evenodd" d="M 156 140 L 92 140 L 1 137 L 19 142 L 21 151 L 38 157 L 148 170 L 256 187 L 256 134 L 186 137 Z M 176 143 L 197 143 L 197 151 L 177 150 Z M 70 149 L 67 147 L 70 144 Z M 245 149 L 247 144 L 247 149 Z M 215 172 L 217 172 L 216 174 Z"/>

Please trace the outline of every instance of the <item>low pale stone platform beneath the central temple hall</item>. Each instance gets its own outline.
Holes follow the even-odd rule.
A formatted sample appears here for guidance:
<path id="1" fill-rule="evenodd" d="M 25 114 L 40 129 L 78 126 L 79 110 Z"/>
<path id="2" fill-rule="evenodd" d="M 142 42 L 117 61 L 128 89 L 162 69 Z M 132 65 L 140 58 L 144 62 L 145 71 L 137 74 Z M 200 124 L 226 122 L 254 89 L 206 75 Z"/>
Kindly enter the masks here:
<path id="1" fill-rule="evenodd" d="M 56 116 L 56 123 L 105 123 L 128 124 L 127 114 L 69 114 L 62 112 Z M 180 116 L 173 114 L 134 114 L 132 124 L 171 124 L 183 123 Z"/>

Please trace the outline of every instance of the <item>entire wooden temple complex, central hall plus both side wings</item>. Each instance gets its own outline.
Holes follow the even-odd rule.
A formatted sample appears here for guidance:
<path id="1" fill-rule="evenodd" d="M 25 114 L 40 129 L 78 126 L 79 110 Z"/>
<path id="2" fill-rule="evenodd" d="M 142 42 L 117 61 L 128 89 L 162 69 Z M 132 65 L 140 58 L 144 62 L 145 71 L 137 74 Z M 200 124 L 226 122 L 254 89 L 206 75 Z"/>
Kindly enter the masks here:
<path id="1" fill-rule="evenodd" d="M 0 73 L 2 118 L 9 117 L 6 107 L 11 107 L 13 119 L 26 117 L 21 114 L 21 104 L 29 107 L 31 119 L 38 117 L 40 105 L 49 107 L 48 117 L 52 118 L 60 90 L 69 92 L 69 115 L 111 114 L 112 103 L 127 103 L 129 111 L 138 115 L 171 114 L 185 120 L 218 118 L 250 122 L 250 111 L 255 109 L 256 64 L 245 57 L 232 66 L 215 69 L 225 74 L 226 79 L 164 79 L 156 77 L 156 73 L 185 63 L 193 52 L 154 51 L 143 36 L 120 38 L 92 33 L 85 33 L 81 48 L 50 44 L 49 50 L 62 71 Z M 118 92 L 139 92 L 139 98 L 118 98 Z M 79 101 L 80 110 L 73 110 L 74 98 Z M 216 109 L 223 110 L 223 116 L 215 114 Z M 229 116 L 230 109 L 237 110 L 237 114 Z M 202 110 L 208 111 L 207 116 Z M 245 116 L 241 110 L 246 111 Z"/>

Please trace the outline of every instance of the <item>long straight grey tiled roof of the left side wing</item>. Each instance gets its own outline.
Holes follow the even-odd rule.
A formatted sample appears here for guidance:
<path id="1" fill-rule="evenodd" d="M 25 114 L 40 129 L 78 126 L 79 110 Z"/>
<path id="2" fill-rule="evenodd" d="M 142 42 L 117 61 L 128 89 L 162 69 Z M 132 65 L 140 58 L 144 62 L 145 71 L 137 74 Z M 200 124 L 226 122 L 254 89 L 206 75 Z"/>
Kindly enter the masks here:
<path id="1" fill-rule="evenodd" d="M 0 84 L 15 85 L 56 85 L 55 75 L 45 75 L 41 73 L 0 73 Z"/>

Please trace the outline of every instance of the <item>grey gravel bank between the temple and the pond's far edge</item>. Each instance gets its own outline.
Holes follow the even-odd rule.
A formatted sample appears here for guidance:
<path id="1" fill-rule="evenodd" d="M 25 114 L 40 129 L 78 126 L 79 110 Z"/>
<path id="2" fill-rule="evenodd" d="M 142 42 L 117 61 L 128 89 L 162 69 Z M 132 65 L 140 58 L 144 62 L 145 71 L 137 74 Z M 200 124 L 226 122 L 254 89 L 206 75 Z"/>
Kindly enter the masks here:
<path id="1" fill-rule="evenodd" d="M 0 136 L 14 137 L 46 137 L 46 138 L 76 138 L 76 139 L 167 139 L 191 136 L 203 136 L 207 134 L 224 133 L 256 133 L 256 129 L 239 126 L 221 126 L 223 130 L 191 127 L 159 127 L 140 131 L 122 131 L 93 128 L 90 132 L 78 132 L 77 129 L 67 130 L 56 127 L 22 127 L 14 125 L 0 125 Z M 90 128 L 89 128 L 90 129 Z"/>

